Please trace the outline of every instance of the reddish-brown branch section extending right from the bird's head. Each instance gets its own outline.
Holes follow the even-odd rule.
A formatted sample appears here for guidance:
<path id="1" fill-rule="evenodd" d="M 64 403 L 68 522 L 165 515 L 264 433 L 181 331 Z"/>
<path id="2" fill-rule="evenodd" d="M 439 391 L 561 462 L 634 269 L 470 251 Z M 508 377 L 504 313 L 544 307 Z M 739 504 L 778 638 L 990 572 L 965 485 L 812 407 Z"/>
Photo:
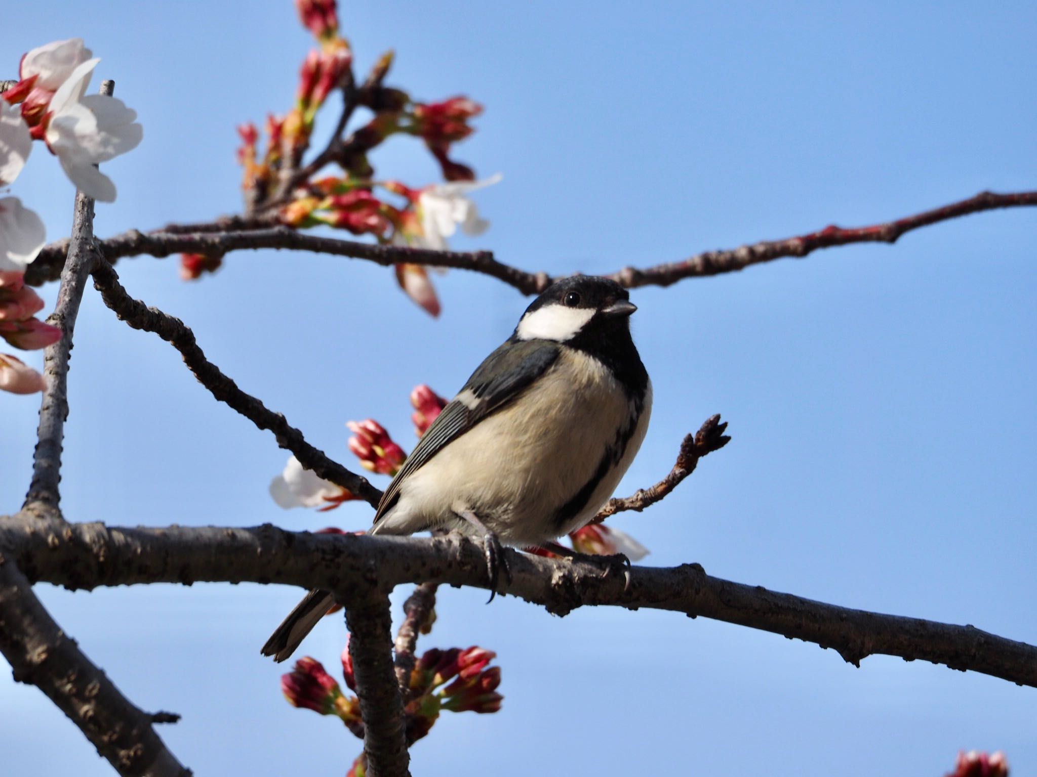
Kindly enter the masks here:
<path id="1" fill-rule="evenodd" d="M 610 278 L 615 279 L 627 288 L 635 288 L 637 286 L 669 286 L 684 278 L 733 272 L 745 269 L 751 264 L 769 262 L 783 257 L 802 258 L 818 249 L 848 246 L 852 242 L 893 243 L 905 232 L 910 232 L 920 227 L 927 227 L 930 224 L 946 222 L 984 210 L 1029 205 L 1037 205 L 1037 192 L 1019 192 L 1016 194 L 980 192 L 968 200 L 954 202 L 950 205 L 944 205 L 943 207 L 908 215 L 905 219 L 886 222 L 885 224 L 850 228 L 832 225 L 818 232 L 810 232 L 797 237 L 788 237 L 784 240 L 764 240 L 752 246 L 742 246 L 728 251 L 705 251 L 681 262 L 658 264 L 646 269 L 624 267 L 618 272 L 613 272 Z"/>

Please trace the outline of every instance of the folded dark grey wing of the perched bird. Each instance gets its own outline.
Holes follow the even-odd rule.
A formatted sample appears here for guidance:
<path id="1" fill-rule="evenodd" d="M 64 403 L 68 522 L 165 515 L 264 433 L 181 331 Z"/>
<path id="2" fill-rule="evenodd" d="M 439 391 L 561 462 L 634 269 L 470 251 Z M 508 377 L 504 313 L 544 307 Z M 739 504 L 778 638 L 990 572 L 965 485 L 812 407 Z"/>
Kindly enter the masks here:
<path id="1" fill-rule="evenodd" d="M 396 503 L 400 484 L 408 476 L 420 469 L 452 440 L 518 397 L 555 363 L 560 351 L 557 344 L 545 340 L 508 340 L 486 356 L 458 394 L 465 401 L 449 402 L 407 457 L 379 502 L 374 523 Z"/>

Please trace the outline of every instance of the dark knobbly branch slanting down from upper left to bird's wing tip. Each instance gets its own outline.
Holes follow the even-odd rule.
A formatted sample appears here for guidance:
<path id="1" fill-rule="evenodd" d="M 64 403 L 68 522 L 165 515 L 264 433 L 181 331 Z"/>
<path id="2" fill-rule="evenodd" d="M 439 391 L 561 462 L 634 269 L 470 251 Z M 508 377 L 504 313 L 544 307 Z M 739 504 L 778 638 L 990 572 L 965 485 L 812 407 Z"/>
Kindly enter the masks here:
<path id="1" fill-rule="evenodd" d="M 118 281 L 118 275 L 107 261 L 97 261 L 93 268 L 94 286 L 101 292 L 105 305 L 135 329 L 152 332 L 172 344 L 184 356 L 184 363 L 195 374 L 198 381 L 212 392 L 221 402 L 226 402 L 260 429 L 274 433 L 277 443 L 295 454 L 300 463 L 312 469 L 319 477 L 346 488 L 372 506 L 377 503 L 382 492 L 367 482 L 366 478 L 351 472 L 338 462 L 332 461 L 323 451 L 317 450 L 303 437 L 303 433 L 291 426 L 279 412 L 270 410 L 255 397 L 246 394 L 237 384 L 224 375 L 220 368 L 205 358 L 205 353 L 195 341 L 194 333 L 174 318 L 155 308 L 131 297 Z"/>

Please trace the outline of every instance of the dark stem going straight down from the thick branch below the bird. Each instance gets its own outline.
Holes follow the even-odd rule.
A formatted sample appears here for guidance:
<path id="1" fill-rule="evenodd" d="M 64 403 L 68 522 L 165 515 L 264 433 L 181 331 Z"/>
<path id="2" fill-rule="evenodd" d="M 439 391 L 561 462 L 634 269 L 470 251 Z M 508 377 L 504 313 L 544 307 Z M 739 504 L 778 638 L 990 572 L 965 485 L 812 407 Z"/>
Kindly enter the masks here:
<path id="1" fill-rule="evenodd" d="M 409 777 L 403 703 L 392 662 L 389 597 L 364 586 L 342 594 L 349 655 L 364 719 L 364 752 L 371 777 Z"/>

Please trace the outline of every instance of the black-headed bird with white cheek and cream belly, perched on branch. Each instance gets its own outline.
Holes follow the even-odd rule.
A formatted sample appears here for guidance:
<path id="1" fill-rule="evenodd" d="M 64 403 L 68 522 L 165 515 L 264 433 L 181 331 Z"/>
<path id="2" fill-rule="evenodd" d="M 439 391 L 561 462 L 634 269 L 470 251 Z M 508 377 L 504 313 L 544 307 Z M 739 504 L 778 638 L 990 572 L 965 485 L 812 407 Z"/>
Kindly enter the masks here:
<path id="1" fill-rule="evenodd" d="M 636 310 L 608 278 L 549 286 L 421 437 L 368 534 L 480 537 L 491 600 L 499 570 L 510 577 L 502 544 L 582 555 L 555 540 L 609 500 L 651 416 L 651 380 L 630 335 Z M 288 658 L 334 604 L 330 592 L 311 591 L 262 654 Z"/>

